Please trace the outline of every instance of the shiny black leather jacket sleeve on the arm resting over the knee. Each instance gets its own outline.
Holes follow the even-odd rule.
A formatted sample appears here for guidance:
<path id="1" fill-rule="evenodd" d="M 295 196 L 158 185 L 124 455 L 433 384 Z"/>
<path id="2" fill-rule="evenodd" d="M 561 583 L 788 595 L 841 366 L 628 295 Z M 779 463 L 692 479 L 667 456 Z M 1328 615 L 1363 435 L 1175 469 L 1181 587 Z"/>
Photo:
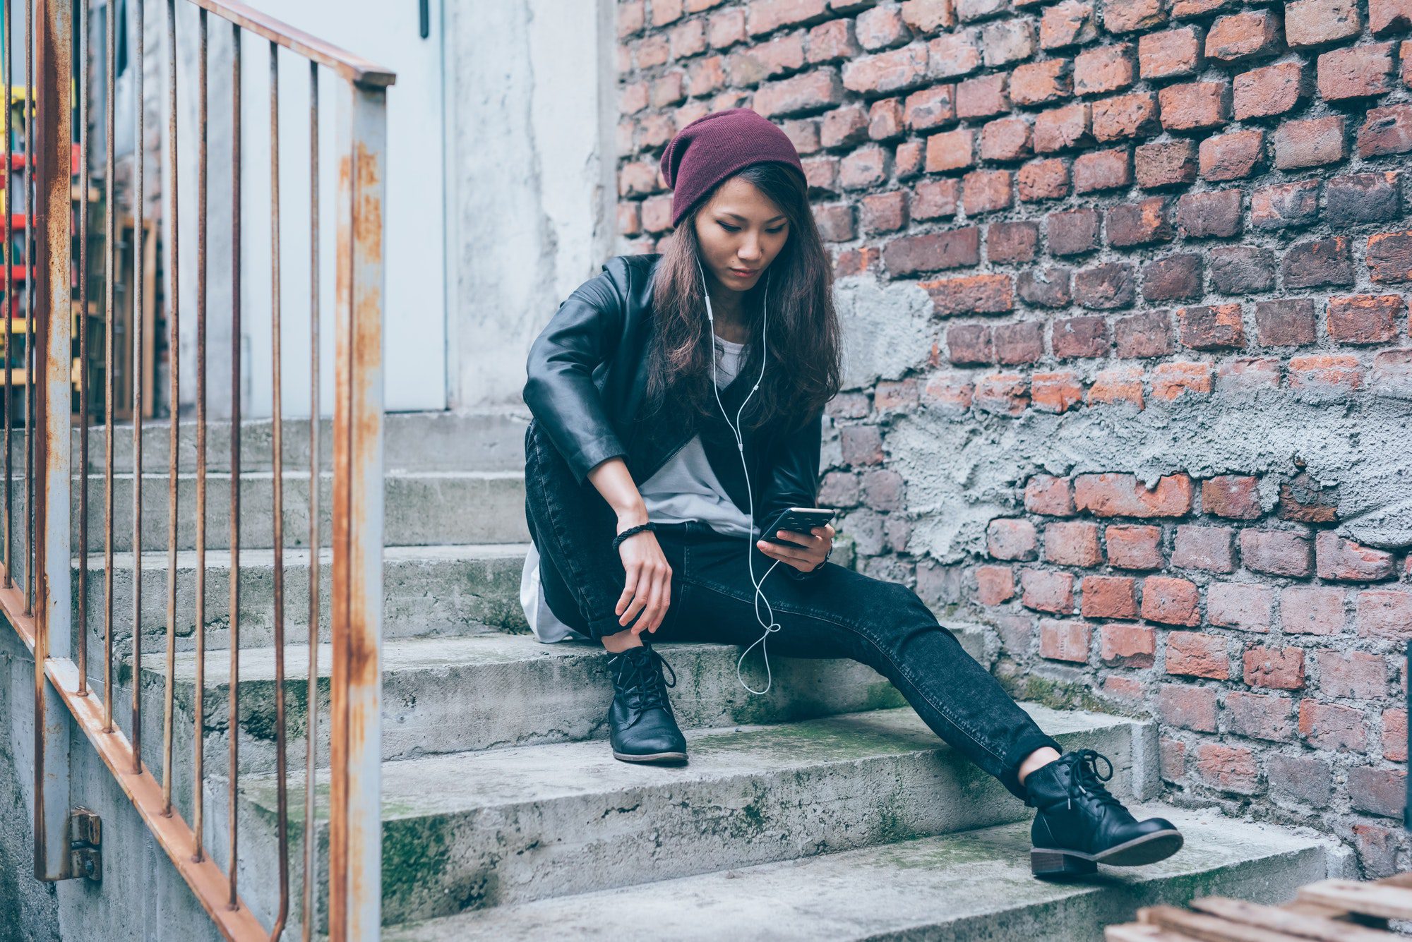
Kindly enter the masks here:
<path id="1" fill-rule="evenodd" d="M 614 257 L 579 285 L 530 345 L 524 400 L 580 485 L 627 448 L 607 417 L 593 371 L 617 350 L 627 305 L 627 265 Z"/>

